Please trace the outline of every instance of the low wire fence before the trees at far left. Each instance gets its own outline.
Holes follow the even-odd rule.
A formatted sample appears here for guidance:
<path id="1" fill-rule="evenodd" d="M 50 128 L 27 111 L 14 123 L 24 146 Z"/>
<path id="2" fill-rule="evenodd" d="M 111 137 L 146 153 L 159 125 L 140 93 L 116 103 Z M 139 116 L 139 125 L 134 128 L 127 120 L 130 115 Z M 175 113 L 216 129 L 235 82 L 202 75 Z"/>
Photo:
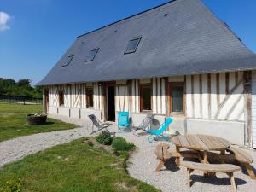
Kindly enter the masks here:
<path id="1" fill-rule="evenodd" d="M 35 98 L 32 96 L 7 96 L 0 94 L 0 102 L 14 102 L 20 104 L 42 104 L 42 98 Z"/>

